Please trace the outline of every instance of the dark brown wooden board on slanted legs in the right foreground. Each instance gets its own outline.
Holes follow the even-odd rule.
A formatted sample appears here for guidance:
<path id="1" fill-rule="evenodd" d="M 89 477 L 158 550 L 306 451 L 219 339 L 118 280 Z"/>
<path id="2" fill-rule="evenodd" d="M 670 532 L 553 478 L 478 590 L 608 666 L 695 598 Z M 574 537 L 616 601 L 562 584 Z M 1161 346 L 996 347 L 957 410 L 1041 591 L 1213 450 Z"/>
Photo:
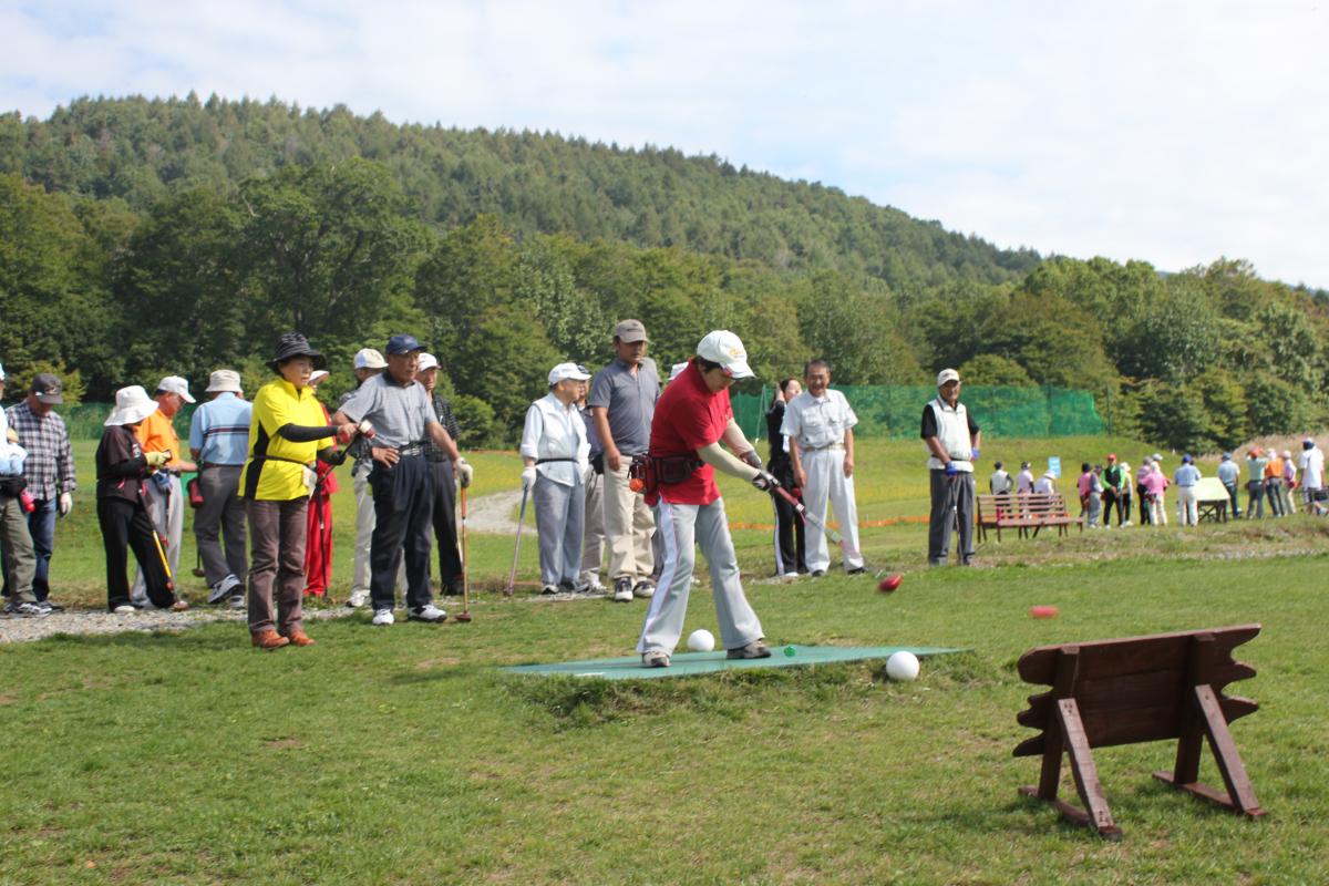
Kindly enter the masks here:
<path id="1" fill-rule="evenodd" d="M 1260 705 L 1223 695 L 1229 683 L 1255 676 L 1255 668 L 1232 659 L 1232 650 L 1259 632 L 1259 624 L 1241 624 L 1025 652 L 1017 664 L 1019 676 L 1053 688 L 1029 696 L 1029 708 L 1017 717 L 1021 725 L 1042 732 L 1022 741 L 1014 756 L 1043 757 L 1038 785 L 1021 788 L 1019 793 L 1050 804 L 1067 820 L 1095 828 L 1103 837 L 1120 840 L 1098 781 L 1092 749 L 1177 739 L 1172 770 L 1155 772 L 1155 778 L 1244 816 L 1263 816 L 1228 732 L 1229 723 Z M 1225 790 L 1197 781 L 1205 737 Z M 1063 752 L 1070 754 L 1082 808 L 1057 796 Z"/>

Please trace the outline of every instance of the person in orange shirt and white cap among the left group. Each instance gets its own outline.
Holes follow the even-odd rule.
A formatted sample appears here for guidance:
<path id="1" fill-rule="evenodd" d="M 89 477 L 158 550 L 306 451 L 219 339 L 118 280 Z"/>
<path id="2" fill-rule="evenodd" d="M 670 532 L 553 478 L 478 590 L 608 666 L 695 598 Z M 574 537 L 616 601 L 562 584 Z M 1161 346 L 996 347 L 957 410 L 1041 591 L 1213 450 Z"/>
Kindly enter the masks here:
<path id="1" fill-rule="evenodd" d="M 185 472 L 198 470 L 198 466 L 181 458 L 179 436 L 175 433 L 173 421 L 179 408 L 186 402 L 194 402 L 194 397 L 189 393 L 187 381 L 179 376 L 166 376 L 157 383 L 153 400 L 157 401 L 157 410 L 144 418 L 134 434 L 145 454 L 170 453 L 166 466 L 155 472 L 148 484 L 148 495 L 152 499 L 148 515 L 166 547 L 170 574 L 178 575 L 179 545 L 185 535 L 185 494 L 179 485 L 179 476 Z M 134 575 L 134 587 L 129 598 L 140 608 L 152 606 L 141 566 Z"/>

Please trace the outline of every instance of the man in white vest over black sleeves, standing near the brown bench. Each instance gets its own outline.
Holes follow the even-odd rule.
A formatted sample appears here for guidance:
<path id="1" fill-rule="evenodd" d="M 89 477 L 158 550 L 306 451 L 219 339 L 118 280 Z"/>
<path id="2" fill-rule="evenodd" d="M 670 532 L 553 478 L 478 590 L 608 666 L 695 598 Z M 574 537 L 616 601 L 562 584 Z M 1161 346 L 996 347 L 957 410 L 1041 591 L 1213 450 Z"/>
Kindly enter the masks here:
<path id="1" fill-rule="evenodd" d="M 950 527 L 960 529 L 960 562 L 974 557 L 974 462 L 979 430 L 960 402 L 960 373 L 937 373 L 937 399 L 922 409 L 928 472 L 932 477 L 932 522 L 928 527 L 928 563 L 945 566 L 950 555 Z"/>

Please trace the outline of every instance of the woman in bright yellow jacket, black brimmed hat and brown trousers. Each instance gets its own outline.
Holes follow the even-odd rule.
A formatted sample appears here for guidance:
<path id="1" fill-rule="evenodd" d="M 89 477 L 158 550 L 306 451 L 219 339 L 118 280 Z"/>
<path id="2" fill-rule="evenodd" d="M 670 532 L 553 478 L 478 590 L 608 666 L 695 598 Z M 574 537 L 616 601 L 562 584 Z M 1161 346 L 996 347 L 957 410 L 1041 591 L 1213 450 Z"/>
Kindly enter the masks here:
<path id="1" fill-rule="evenodd" d="M 350 441 L 356 426 L 327 424 L 310 385 L 310 376 L 326 368 L 327 360 L 303 335 L 283 335 L 267 365 L 278 377 L 254 397 L 241 495 L 250 530 L 250 635 L 260 650 L 276 650 L 314 643 L 302 622 L 306 526 L 316 480 L 314 462 L 340 464 L 346 454 L 335 450 L 332 438 Z"/>

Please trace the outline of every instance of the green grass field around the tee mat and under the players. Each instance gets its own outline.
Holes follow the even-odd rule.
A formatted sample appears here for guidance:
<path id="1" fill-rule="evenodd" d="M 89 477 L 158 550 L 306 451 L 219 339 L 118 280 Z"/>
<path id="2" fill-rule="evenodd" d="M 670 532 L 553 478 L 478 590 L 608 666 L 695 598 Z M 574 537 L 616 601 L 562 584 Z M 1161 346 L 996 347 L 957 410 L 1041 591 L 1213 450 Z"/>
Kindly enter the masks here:
<path id="1" fill-rule="evenodd" d="M 1055 445 L 1075 466 L 1103 450 Z M 472 461 L 478 491 L 517 473 L 510 456 Z M 865 446 L 864 510 L 922 513 L 918 461 L 916 446 Z M 731 517 L 762 517 L 759 495 L 727 491 Z M 57 574 L 82 570 L 62 587 L 96 603 L 90 510 L 62 525 L 78 538 L 61 537 Z M 355 615 L 274 654 L 235 624 L 0 647 L 0 882 L 1325 881 L 1329 521 L 1007 539 L 979 550 L 982 569 L 932 571 L 924 533 L 865 533 L 870 557 L 906 573 L 890 596 L 835 574 L 747 586 L 772 643 L 973 650 L 926 660 L 912 684 L 880 663 L 516 677 L 497 665 L 630 652 L 643 608 L 493 592 L 469 626 Z M 764 534 L 736 539 L 744 571 L 767 575 Z M 501 574 L 510 538 L 481 541 L 477 563 L 494 561 L 481 571 Z M 1061 615 L 1029 618 L 1038 603 Z M 1244 622 L 1264 624 L 1239 651 L 1259 676 L 1232 691 L 1263 707 L 1233 736 L 1265 820 L 1150 778 L 1171 765 L 1166 744 L 1096 754 L 1120 843 L 1017 797 L 1038 770 L 1010 756 L 1033 735 L 1015 723 L 1037 691 L 1014 672 L 1021 652 Z M 715 628 L 706 588 L 692 627 Z M 1208 758 L 1201 778 L 1217 780 Z"/>

